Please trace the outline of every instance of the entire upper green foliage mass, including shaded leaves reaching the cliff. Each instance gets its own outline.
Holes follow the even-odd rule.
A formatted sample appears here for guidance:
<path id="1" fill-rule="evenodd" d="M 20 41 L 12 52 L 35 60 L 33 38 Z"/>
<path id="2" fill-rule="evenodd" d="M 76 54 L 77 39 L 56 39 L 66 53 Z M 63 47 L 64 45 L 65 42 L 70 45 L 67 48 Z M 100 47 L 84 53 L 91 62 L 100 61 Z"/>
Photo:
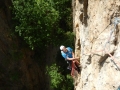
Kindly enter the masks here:
<path id="1" fill-rule="evenodd" d="M 32 48 L 59 45 L 71 30 L 69 0 L 13 0 L 15 31 Z M 67 38 L 66 38 L 67 39 Z M 58 42 L 59 41 L 59 42 Z"/>

